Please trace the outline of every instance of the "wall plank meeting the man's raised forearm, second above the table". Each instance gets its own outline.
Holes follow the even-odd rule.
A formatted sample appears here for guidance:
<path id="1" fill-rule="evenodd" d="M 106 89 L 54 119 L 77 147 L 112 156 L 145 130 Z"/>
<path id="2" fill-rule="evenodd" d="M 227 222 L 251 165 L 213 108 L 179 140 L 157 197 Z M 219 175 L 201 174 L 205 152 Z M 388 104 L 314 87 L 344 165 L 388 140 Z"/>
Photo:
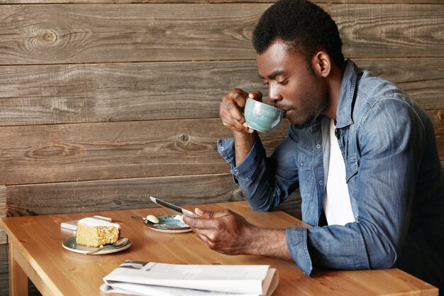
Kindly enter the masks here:
<path id="1" fill-rule="evenodd" d="M 271 151 L 288 124 L 262 136 Z M 216 149 L 220 119 L 4 126 L 0 184 L 106 180 L 229 171 Z"/>

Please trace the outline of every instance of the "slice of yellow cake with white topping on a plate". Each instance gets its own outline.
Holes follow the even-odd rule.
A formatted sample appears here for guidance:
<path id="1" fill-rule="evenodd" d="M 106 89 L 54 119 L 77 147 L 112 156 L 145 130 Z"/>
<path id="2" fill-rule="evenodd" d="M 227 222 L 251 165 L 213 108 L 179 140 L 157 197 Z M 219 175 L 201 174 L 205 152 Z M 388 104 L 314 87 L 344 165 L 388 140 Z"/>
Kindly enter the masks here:
<path id="1" fill-rule="evenodd" d="M 84 218 L 77 222 L 76 242 L 79 245 L 98 247 L 118 240 L 121 226 L 116 223 L 94 218 Z"/>

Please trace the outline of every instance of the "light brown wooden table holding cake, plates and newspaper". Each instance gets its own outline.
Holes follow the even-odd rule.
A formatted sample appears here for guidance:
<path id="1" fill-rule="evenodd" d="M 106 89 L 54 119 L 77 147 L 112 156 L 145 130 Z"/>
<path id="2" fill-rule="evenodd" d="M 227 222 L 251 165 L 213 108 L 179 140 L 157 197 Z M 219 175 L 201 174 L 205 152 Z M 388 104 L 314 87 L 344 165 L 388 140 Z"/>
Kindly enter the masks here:
<path id="1" fill-rule="evenodd" d="M 193 209 L 194 207 L 187 207 Z M 245 202 L 201 206 L 228 208 L 252 224 L 271 228 L 301 226 L 284 212 L 253 212 Z M 329 271 L 306 277 L 295 263 L 262 256 L 226 256 L 211 251 L 192 232 L 165 234 L 148 229 L 132 215 L 170 214 L 166 209 L 21 216 L 1 218 L 9 236 L 10 295 L 28 295 L 28 278 L 43 295 L 111 295 L 100 292 L 102 278 L 125 260 L 175 264 L 269 264 L 279 270 L 274 296 L 291 295 L 438 295 L 438 289 L 399 269 Z M 109 216 L 121 224 L 122 235 L 133 242 L 127 250 L 88 256 L 62 248 L 74 231 L 60 228 L 62 221 L 85 216 Z M 273 243 L 270 241 L 270 243 Z"/>

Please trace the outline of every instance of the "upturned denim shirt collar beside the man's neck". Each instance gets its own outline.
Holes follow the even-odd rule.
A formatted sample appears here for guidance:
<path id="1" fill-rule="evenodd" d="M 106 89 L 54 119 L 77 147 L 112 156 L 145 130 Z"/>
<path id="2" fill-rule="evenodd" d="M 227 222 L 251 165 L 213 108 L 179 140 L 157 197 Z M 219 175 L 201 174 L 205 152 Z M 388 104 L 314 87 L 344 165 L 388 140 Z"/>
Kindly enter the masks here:
<path id="1" fill-rule="evenodd" d="M 336 108 L 336 128 L 343 128 L 353 124 L 352 105 L 355 97 L 358 71 L 355 63 L 347 60 L 343 81 L 340 84 L 338 107 Z"/>

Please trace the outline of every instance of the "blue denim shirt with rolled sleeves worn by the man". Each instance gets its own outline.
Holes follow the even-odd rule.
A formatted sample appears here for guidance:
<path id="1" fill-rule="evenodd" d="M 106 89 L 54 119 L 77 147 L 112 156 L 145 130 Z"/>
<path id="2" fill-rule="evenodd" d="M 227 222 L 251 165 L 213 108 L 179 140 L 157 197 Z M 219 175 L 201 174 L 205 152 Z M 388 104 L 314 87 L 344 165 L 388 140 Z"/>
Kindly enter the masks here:
<path id="1" fill-rule="evenodd" d="M 328 121 L 321 116 L 308 128 L 290 126 L 270 158 L 259 137 L 238 165 L 233 138 L 218 140 L 218 150 L 252 209 L 270 211 L 299 187 L 302 220 L 313 227 L 289 227 L 286 235 L 306 275 L 313 266 L 398 266 L 442 285 L 443 170 L 426 112 L 394 84 L 347 62 L 335 129 L 355 216 L 345 226 L 319 225 L 328 172 L 323 150 L 329 147 L 322 129 Z"/>

